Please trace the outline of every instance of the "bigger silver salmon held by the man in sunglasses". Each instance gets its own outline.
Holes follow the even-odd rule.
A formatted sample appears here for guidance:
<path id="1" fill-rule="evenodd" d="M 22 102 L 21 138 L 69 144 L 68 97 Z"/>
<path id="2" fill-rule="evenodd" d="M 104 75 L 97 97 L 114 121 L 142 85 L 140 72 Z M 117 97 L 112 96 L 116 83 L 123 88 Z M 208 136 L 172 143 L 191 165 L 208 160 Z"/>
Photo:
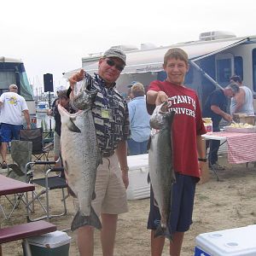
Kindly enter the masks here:
<path id="1" fill-rule="evenodd" d="M 80 90 L 74 90 L 73 102 L 80 109 L 77 113 L 68 113 L 58 105 L 61 114 L 61 157 L 65 176 L 71 194 L 79 201 L 79 211 L 73 218 L 71 230 L 83 225 L 102 228 L 96 212 L 91 207 L 91 201 L 96 197 L 96 169 L 102 163 L 91 113 L 96 91 L 86 90 L 85 85 Z"/>

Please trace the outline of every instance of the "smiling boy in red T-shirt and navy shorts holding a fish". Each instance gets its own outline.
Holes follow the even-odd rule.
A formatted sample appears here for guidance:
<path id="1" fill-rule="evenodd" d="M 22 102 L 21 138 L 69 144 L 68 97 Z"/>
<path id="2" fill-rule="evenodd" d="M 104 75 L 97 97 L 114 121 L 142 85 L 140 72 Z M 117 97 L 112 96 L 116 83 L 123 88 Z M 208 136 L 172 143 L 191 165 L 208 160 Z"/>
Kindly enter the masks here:
<path id="1" fill-rule="evenodd" d="M 173 232 L 170 241 L 170 255 L 181 253 L 184 232 L 192 224 L 195 197 L 195 184 L 201 175 L 201 161 L 206 161 L 201 135 L 206 133 L 201 119 L 201 107 L 195 90 L 183 83 L 189 71 L 189 58 L 180 48 L 172 48 L 164 57 L 165 81 L 153 81 L 147 92 L 148 113 L 152 114 L 155 105 L 168 102 L 170 110 L 175 111 L 172 125 L 173 168 L 176 183 L 172 185 L 172 209 L 169 229 Z M 170 155 L 170 157 L 172 157 Z M 165 236 L 154 237 L 160 222 L 159 208 L 154 206 L 154 193 L 150 193 L 150 212 L 148 229 L 151 230 L 151 255 L 160 256 L 165 244 Z"/>

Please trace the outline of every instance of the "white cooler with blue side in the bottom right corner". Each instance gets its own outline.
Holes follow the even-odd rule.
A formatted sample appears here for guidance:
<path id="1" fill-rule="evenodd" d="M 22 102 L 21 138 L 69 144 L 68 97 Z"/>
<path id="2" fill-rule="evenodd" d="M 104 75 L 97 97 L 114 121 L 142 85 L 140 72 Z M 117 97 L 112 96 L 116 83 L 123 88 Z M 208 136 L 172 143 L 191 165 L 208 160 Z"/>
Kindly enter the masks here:
<path id="1" fill-rule="evenodd" d="M 195 238 L 195 256 L 255 256 L 256 225 L 204 233 Z"/>

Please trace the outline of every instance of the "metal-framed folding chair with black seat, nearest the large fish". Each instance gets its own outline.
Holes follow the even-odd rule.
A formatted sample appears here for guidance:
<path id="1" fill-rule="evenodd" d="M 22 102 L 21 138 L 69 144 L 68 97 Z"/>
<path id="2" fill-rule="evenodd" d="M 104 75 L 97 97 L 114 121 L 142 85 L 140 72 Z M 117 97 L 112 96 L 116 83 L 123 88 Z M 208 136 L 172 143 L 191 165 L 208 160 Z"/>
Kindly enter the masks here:
<path id="1" fill-rule="evenodd" d="M 29 162 L 26 165 L 26 170 L 29 172 L 29 168 L 32 168 L 32 166 L 37 165 L 53 165 L 55 164 L 55 161 L 34 161 Z M 61 172 L 61 175 L 55 175 L 55 176 L 49 176 L 50 172 Z M 33 191 L 32 192 L 32 200 L 28 202 L 28 207 L 30 205 L 33 205 L 35 201 L 38 201 L 39 205 L 43 208 L 45 215 L 39 218 L 31 218 L 30 211 L 27 207 L 27 221 L 37 221 L 40 219 L 47 218 L 53 218 L 53 217 L 59 217 L 64 216 L 67 214 L 67 205 L 66 205 L 66 199 L 68 196 L 65 195 L 64 189 L 67 188 L 67 183 L 64 175 L 64 168 L 63 167 L 50 167 L 46 172 L 44 172 L 44 177 L 41 178 L 32 178 L 32 183 L 38 184 L 39 186 L 43 187 L 39 193 Z M 62 199 L 63 202 L 63 212 L 59 214 L 51 214 L 49 209 L 49 191 L 53 189 L 61 189 L 62 192 Z M 41 201 L 41 196 L 45 195 L 45 204 Z"/>

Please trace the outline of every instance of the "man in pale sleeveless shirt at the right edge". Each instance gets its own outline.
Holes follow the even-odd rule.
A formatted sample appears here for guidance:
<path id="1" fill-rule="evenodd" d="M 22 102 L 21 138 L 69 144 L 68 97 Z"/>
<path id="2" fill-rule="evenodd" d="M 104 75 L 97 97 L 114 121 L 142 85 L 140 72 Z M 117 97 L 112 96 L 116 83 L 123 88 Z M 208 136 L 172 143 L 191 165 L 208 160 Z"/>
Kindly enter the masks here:
<path id="1" fill-rule="evenodd" d="M 252 90 L 242 85 L 240 76 L 232 76 L 230 83 L 237 84 L 240 89 L 239 93 L 231 98 L 230 113 L 247 113 L 247 115 L 254 115 Z"/>

